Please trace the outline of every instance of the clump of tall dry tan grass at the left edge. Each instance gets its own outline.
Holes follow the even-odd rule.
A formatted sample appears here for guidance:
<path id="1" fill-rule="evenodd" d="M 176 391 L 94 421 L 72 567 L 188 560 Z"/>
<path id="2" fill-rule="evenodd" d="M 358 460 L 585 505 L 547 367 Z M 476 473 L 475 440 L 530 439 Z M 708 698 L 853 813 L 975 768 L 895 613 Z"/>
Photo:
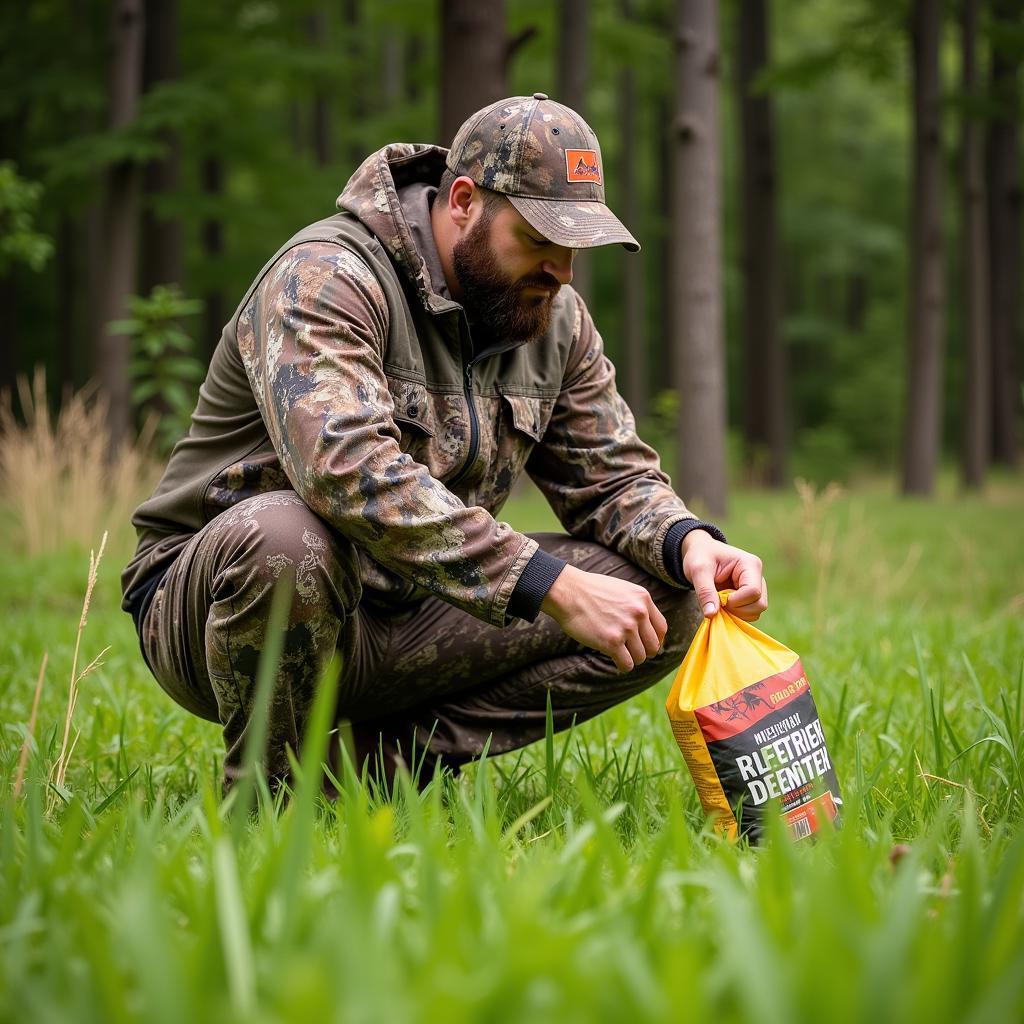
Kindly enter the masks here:
<path id="1" fill-rule="evenodd" d="M 41 368 L 31 385 L 18 379 L 17 395 L 20 418 L 12 396 L 0 396 L 0 495 L 22 549 L 84 547 L 112 527 L 117 549 L 129 546 L 132 509 L 156 475 L 145 439 L 112 453 L 106 402 L 90 388 L 70 395 L 54 419 Z"/>

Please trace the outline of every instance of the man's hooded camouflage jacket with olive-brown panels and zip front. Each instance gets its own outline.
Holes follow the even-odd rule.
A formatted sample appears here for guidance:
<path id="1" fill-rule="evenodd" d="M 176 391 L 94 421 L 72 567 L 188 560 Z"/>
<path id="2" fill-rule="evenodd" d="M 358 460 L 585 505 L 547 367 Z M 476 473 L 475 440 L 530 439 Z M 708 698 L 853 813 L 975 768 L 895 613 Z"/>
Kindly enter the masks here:
<path id="1" fill-rule="evenodd" d="M 472 337 L 447 296 L 429 221 L 444 156 L 411 144 L 373 154 L 340 212 L 257 275 L 187 437 L 133 518 L 126 609 L 138 613 L 138 595 L 218 513 L 290 487 L 355 546 L 365 594 L 433 593 L 502 626 L 532 572 L 530 612 L 518 611 L 531 617 L 550 556 L 496 518 L 523 469 L 570 535 L 685 585 L 665 542 L 694 517 L 637 437 L 580 297 L 562 288 L 544 338 L 503 345 Z"/>

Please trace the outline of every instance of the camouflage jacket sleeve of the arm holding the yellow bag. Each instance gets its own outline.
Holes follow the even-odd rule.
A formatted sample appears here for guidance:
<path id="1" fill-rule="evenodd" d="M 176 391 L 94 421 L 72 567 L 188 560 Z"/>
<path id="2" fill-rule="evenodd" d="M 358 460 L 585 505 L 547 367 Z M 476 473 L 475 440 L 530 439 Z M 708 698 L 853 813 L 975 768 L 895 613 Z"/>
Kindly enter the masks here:
<path id="1" fill-rule="evenodd" d="M 572 537 L 602 544 L 666 583 L 688 586 L 667 563 L 665 542 L 675 523 L 696 516 L 672 489 L 657 453 L 637 436 L 601 336 L 583 300 L 575 301 L 561 393 L 526 471 Z"/>

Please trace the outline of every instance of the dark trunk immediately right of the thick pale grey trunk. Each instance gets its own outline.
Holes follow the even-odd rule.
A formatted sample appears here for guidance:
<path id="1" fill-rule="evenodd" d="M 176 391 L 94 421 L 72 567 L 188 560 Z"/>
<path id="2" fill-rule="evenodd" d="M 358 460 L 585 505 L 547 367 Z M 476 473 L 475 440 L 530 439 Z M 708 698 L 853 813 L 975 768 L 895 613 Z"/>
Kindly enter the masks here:
<path id="1" fill-rule="evenodd" d="M 742 178 L 743 440 L 758 482 L 785 482 L 786 375 L 780 331 L 775 124 L 771 100 L 754 83 L 768 62 L 768 0 L 739 5 L 740 174 Z"/>

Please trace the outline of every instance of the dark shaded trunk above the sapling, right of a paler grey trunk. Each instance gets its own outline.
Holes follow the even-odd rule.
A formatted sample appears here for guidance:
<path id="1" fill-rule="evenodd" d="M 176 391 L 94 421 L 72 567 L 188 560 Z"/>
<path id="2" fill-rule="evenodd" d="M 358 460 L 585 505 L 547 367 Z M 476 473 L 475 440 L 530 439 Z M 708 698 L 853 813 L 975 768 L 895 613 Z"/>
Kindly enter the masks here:
<path id="1" fill-rule="evenodd" d="M 178 77 L 177 0 L 146 0 L 143 88 Z M 181 224 L 177 217 L 158 209 L 161 198 L 178 190 L 181 145 L 175 132 L 165 132 L 167 156 L 145 168 L 145 210 L 142 215 L 142 292 L 157 285 L 179 285 L 184 276 Z"/>

